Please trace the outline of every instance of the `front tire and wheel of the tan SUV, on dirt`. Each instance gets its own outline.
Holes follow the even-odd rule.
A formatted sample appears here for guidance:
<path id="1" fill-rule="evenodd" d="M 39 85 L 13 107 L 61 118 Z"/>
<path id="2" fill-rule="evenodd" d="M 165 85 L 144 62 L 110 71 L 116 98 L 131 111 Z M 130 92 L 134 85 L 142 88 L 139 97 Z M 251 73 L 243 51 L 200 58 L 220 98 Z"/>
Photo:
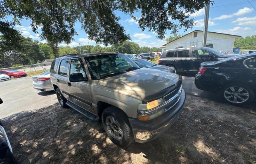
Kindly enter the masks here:
<path id="1" fill-rule="evenodd" d="M 120 109 L 113 106 L 108 107 L 103 111 L 101 118 L 104 130 L 114 144 L 125 148 L 134 141 L 128 118 Z M 112 118 L 114 118 L 114 121 Z M 112 125 L 107 127 L 107 124 Z M 120 128 L 122 133 L 120 133 Z"/>

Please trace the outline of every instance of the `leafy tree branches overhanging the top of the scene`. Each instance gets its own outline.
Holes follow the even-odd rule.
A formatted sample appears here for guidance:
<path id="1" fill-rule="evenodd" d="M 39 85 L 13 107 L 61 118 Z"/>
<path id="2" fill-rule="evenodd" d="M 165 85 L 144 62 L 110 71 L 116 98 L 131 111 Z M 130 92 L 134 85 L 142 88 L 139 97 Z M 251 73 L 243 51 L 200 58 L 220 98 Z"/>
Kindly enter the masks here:
<path id="1" fill-rule="evenodd" d="M 40 37 L 48 41 L 53 53 L 59 43 L 70 43 L 77 34 L 74 25 L 77 21 L 96 43 L 116 44 L 129 40 L 124 27 L 119 23 L 120 17 L 115 11 L 129 14 L 141 12 L 138 20 L 142 31 L 148 29 L 156 32 L 157 38 L 164 39 L 166 30 L 175 34 L 184 27 L 185 31 L 194 26 L 194 20 L 186 13 L 194 13 L 210 0 L 2 0 L 0 2 L 0 33 L 8 35 L 14 25 L 20 25 L 21 19 L 31 20 L 34 32 L 42 29 Z M 211 2 L 212 3 L 212 2 Z M 12 21 L 6 21 L 12 17 Z M 172 18 L 171 20 L 169 18 Z M 9 24 L 9 28 L 3 28 Z M 15 35 L 18 36 L 18 35 Z M 7 38 L 14 41 L 12 38 Z"/>

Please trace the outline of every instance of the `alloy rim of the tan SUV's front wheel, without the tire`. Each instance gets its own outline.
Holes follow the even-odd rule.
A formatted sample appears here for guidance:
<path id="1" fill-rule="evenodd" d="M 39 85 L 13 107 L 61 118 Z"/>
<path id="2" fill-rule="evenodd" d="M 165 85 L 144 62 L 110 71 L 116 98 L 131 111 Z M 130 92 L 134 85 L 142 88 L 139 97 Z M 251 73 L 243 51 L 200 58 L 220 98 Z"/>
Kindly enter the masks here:
<path id="1" fill-rule="evenodd" d="M 112 137 L 116 140 L 122 140 L 123 130 L 121 124 L 113 116 L 106 117 L 106 126 Z"/>

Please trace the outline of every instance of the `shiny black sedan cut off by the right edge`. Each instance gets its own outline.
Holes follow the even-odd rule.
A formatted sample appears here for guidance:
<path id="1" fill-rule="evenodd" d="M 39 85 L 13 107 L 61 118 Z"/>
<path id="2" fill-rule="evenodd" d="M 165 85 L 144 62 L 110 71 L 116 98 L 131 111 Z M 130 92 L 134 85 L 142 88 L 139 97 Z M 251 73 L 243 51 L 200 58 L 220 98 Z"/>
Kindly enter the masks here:
<path id="1" fill-rule="evenodd" d="M 252 103 L 256 93 L 256 53 L 201 63 L 195 85 L 204 91 L 220 92 L 233 105 Z"/>

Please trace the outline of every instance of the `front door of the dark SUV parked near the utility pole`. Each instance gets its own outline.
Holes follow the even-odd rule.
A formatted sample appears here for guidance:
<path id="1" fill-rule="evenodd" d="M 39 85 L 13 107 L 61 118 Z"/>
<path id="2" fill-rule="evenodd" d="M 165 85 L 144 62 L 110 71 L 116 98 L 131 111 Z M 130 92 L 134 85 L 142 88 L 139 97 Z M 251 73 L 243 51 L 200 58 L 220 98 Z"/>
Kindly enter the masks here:
<path id="1" fill-rule="evenodd" d="M 213 61 L 214 58 L 209 57 L 210 53 L 204 49 L 192 49 L 192 56 L 190 57 L 190 67 L 192 71 L 198 71 L 202 62 Z"/>

